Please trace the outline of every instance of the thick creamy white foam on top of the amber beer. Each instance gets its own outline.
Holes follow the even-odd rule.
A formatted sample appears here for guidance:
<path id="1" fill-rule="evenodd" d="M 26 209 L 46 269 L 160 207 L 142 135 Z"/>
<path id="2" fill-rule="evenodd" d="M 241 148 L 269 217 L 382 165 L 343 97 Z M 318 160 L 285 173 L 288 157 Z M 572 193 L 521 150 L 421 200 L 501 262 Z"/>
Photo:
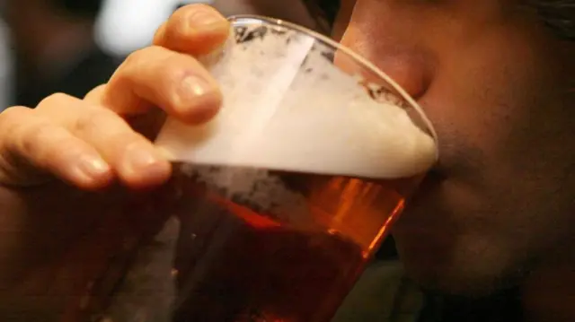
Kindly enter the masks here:
<path id="1" fill-rule="evenodd" d="M 270 30 L 228 45 L 211 67 L 224 94 L 220 113 L 202 126 L 169 119 L 156 144 L 173 161 L 195 164 L 367 178 L 428 170 L 432 137 L 393 101 L 371 98 L 323 47 Z"/>

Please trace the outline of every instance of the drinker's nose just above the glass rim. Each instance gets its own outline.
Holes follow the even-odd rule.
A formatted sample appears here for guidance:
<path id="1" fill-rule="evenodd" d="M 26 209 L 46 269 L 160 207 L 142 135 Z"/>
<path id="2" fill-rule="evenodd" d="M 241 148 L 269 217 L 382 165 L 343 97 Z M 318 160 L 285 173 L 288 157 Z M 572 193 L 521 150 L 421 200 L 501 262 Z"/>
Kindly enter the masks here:
<path id="1" fill-rule="evenodd" d="M 367 19 L 373 20 L 372 17 Z M 413 99 L 420 99 L 432 79 L 430 57 L 412 37 L 391 32 L 382 22 L 370 23 L 354 14 L 341 37 L 341 44 L 376 65 Z"/>

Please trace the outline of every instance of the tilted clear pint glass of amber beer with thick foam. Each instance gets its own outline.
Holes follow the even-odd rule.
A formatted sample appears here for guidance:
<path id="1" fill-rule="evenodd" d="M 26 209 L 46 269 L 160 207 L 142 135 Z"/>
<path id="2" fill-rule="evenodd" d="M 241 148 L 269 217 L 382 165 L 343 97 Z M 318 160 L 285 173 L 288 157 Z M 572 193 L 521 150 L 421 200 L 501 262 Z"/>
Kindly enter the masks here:
<path id="1" fill-rule="evenodd" d="M 156 140 L 177 222 L 164 319 L 328 322 L 437 160 L 435 133 L 349 49 L 287 22 L 231 21 L 204 59 L 221 111 L 200 126 L 168 119 Z"/>

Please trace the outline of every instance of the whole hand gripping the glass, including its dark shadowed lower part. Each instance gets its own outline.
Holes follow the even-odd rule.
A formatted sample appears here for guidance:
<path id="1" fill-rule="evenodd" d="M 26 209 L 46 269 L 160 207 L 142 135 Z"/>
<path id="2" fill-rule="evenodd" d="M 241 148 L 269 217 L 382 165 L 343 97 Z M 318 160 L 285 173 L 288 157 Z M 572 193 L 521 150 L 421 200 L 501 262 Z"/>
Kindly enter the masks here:
<path id="1" fill-rule="evenodd" d="M 217 83 L 195 57 L 229 31 L 213 8 L 182 7 L 84 99 L 54 94 L 0 114 L 0 320 L 80 320 L 87 297 L 109 292 L 114 269 L 162 227 L 163 213 L 129 201 L 149 202 L 148 188 L 170 178 L 150 141 L 166 115 L 217 114 Z"/>

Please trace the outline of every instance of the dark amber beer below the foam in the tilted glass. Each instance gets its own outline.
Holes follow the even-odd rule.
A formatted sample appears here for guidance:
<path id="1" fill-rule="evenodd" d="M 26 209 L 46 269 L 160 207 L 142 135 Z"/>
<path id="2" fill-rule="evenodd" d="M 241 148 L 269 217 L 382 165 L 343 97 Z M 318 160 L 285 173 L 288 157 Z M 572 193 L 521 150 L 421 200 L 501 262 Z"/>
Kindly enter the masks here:
<path id="1" fill-rule="evenodd" d="M 174 169 L 174 322 L 330 321 L 417 181 Z"/>

